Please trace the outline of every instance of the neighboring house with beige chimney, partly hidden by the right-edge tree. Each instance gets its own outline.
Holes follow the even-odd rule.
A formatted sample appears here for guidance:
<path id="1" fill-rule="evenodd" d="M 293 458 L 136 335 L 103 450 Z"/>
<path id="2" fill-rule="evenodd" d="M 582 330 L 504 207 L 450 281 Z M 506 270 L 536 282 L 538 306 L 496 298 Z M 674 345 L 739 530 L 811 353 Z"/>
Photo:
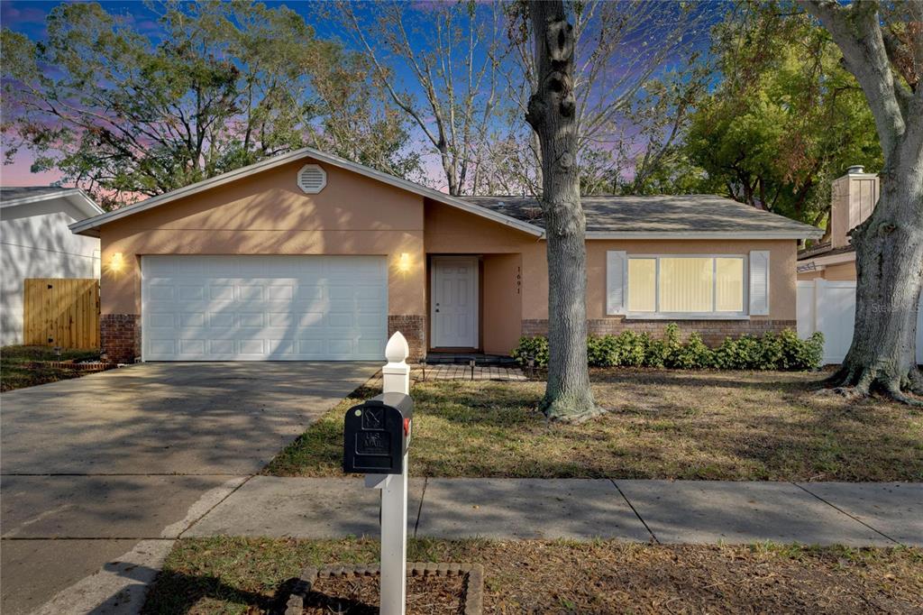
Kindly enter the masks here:
<path id="1" fill-rule="evenodd" d="M 878 175 L 864 171 L 851 166 L 833 180 L 830 224 L 816 246 L 798 252 L 799 282 L 856 282 L 856 247 L 847 234 L 871 215 L 881 190 Z"/>

